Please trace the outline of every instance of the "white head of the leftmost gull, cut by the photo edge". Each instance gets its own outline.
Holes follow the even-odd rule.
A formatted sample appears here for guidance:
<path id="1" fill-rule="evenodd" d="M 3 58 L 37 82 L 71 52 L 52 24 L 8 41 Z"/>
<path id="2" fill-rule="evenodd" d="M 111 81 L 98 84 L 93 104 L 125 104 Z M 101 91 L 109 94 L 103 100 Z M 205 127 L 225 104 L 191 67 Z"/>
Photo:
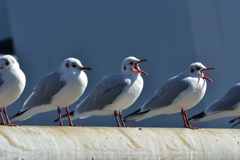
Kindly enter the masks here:
<path id="1" fill-rule="evenodd" d="M 0 58 L 0 71 L 7 72 L 12 68 L 19 68 L 16 59 L 11 55 L 4 55 Z"/>

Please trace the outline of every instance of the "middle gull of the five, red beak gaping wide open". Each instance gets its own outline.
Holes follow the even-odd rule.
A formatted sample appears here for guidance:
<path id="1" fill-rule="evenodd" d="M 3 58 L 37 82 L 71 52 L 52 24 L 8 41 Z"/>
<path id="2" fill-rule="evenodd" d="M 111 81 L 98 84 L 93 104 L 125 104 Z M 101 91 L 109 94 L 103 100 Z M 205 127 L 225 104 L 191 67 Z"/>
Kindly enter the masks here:
<path id="1" fill-rule="evenodd" d="M 120 126 L 117 114 L 122 123 L 122 110 L 131 106 L 143 88 L 143 79 L 138 64 L 147 61 L 146 59 L 139 60 L 133 56 L 127 57 L 122 62 L 121 74 L 112 74 L 104 77 L 96 84 L 90 94 L 84 98 L 76 109 L 70 113 L 72 119 L 83 119 L 92 115 L 112 115 L 114 114 L 117 126 Z M 66 115 L 63 119 L 66 119 Z M 59 119 L 55 120 L 58 121 Z"/>

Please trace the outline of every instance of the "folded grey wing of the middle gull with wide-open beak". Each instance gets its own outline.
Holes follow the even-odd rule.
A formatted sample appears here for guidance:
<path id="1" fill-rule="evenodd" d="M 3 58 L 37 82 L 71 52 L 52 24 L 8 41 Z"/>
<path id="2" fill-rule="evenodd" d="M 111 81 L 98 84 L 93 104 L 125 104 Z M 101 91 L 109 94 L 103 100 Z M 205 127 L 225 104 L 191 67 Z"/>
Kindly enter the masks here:
<path id="1" fill-rule="evenodd" d="M 110 75 L 103 78 L 90 94 L 75 109 L 75 113 L 80 114 L 94 110 L 102 110 L 122 93 L 128 82 L 122 75 Z"/>

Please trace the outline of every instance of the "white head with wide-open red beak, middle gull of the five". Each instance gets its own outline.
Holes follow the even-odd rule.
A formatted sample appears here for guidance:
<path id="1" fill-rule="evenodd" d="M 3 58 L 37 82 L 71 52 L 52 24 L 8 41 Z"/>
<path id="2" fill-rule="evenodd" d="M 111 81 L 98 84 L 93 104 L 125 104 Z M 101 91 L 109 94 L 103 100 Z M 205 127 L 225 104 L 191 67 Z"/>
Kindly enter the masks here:
<path id="1" fill-rule="evenodd" d="M 123 60 L 121 72 L 124 74 L 145 74 L 148 75 L 146 72 L 141 71 L 138 67 L 138 64 L 141 62 L 147 61 L 146 59 L 139 60 L 135 57 L 127 57 Z"/>

